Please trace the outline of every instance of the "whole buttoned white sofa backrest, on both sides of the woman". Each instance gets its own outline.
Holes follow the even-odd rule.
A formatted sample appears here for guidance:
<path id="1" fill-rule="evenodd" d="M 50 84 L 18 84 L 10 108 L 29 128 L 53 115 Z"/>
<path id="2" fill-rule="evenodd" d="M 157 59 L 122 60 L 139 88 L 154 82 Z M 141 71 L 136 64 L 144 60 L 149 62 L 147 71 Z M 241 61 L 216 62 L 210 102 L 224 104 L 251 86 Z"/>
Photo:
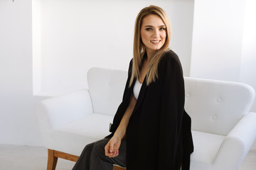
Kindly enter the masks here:
<path id="1" fill-rule="evenodd" d="M 127 71 L 92 68 L 87 74 L 95 113 L 114 115 L 122 101 Z M 250 111 L 255 91 L 245 84 L 184 77 L 185 109 L 192 130 L 227 135 Z"/>

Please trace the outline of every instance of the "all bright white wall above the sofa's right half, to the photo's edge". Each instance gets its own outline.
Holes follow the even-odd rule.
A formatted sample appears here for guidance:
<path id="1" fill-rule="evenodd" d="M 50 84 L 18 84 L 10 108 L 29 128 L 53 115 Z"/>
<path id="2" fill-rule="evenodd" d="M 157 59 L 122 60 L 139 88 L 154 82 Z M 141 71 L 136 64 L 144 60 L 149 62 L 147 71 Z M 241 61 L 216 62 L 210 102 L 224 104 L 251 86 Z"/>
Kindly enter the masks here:
<path id="1" fill-rule="evenodd" d="M 245 2 L 195 0 L 191 77 L 240 81 L 256 89 L 256 6 L 247 0 L 245 8 Z"/>

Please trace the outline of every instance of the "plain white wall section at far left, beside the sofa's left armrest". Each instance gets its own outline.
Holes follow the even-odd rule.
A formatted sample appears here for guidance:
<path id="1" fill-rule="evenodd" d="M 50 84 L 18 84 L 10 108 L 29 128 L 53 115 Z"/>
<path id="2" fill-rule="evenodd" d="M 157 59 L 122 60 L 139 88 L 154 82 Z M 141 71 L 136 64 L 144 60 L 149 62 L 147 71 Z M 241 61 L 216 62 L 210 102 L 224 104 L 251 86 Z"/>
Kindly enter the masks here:
<path id="1" fill-rule="evenodd" d="M 42 145 L 33 106 L 31 0 L 0 1 L 0 143 Z"/>

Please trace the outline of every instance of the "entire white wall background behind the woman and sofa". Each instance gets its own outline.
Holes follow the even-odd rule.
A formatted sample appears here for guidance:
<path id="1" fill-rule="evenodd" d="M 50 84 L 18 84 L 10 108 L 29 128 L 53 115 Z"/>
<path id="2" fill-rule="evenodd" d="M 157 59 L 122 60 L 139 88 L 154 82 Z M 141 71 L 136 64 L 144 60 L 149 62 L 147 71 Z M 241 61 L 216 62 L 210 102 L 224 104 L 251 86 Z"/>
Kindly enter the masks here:
<path id="1" fill-rule="evenodd" d="M 86 88 L 90 67 L 127 69 L 135 18 L 150 4 L 169 14 L 186 76 L 256 89 L 253 0 L 0 0 L 0 143 L 42 145 L 42 95 Z"/>

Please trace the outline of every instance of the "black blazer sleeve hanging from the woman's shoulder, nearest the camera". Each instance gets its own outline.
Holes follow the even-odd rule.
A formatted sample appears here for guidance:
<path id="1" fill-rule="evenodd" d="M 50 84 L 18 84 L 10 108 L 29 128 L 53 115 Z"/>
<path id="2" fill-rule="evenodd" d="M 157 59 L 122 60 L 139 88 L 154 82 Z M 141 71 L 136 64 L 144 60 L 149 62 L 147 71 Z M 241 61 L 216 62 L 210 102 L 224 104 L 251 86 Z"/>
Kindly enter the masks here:
<path id="1" fill-rule="evenodd" d="M 162 63 L 161 112 L 159 127 L 159 170 L 180 169 L 181 126 L 184 111 L 184 81 L 181 64 L 174 52 Z"/>

